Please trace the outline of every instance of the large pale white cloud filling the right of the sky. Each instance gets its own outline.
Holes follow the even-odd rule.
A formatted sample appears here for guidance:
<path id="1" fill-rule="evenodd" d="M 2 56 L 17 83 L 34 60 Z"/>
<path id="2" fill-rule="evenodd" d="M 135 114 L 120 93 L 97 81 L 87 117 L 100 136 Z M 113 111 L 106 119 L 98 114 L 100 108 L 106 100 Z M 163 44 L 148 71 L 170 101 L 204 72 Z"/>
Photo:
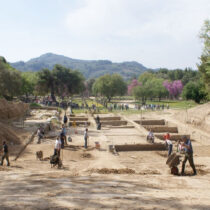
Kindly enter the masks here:
<path id="1" fill-rule="evenodd" d="M 85 46 L 83 58 L 194 67 L 209 11 L 208 0 L 84 0 L 67 15 L 66 25 L 75 45 Z"/>

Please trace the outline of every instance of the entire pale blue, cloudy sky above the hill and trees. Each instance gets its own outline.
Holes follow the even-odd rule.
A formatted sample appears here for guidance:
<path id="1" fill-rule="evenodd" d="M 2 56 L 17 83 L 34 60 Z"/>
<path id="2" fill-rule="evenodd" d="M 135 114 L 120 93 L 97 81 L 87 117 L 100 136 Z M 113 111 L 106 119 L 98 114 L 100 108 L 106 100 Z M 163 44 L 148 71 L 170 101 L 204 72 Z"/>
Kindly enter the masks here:
<path id="1" fill-rule="evenodd" d="M 196 68 L 209 0 L 0 0 L 0 55 Z"/>

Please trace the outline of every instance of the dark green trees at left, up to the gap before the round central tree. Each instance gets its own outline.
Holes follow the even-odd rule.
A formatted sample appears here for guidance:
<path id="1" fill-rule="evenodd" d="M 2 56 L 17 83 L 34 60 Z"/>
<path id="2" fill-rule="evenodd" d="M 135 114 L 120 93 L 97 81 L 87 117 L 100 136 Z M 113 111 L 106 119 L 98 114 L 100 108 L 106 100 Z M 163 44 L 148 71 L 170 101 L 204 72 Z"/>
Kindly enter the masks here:
<path id="1" fill-rule="evenodd" d="M 55 65 L 52 71 L 20 72 L 0 57 L 0 97 L 7 100 L 15 96 L 50 94 L 56 101 L 56 95 L 65 97 L 84 91 L 84 80 L 80 72 L 61 65 Z"/>

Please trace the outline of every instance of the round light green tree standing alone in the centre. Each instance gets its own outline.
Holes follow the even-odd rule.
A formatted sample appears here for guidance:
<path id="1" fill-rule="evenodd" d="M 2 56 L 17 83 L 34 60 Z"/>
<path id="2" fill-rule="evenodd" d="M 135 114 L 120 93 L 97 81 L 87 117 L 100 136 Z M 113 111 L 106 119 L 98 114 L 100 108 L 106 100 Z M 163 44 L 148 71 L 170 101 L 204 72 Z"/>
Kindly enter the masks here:
<path id="1" fill-rule="evenodd" d="M 127 84 L 119 74 L 106 74 L 96 79 L 93 92 L 111 101 L 113 96 L 122 96 L 127 91 Z"/>

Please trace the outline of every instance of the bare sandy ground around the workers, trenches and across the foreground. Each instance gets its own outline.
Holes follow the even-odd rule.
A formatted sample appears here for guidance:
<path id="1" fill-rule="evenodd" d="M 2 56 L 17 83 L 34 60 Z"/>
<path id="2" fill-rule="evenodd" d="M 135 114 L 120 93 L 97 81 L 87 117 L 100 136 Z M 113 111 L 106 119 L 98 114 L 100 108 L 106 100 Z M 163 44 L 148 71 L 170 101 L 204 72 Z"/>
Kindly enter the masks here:
<path id="1" fill-rule="evenodd" d="M 173 176 L 165 164 L 167 151 L 108 151 L 110 144 L 146 143 L 142 128 L 97 131 L 89 117 L 89 148 L 83 148 L 84 127 L 68 130 L 73 142 L 63 150 L 64 167 L 51 168 L 49 161 L 36 160 L 53 154 L 55 139 L 30 144 L 10 167 L 0 167 L 0 209 L 210 209 L 210 133 L 174 118 L 176 111 L 149 113 L 148 119 L 166 119 L 180 132 L 193 136 L 197 176 Z M 140 115 L 126 116 L 130 121 Z M 59 131 L 54 131 L 58 133 Z M 202 137 L 201 137 L 202 136 Z M 95 142 L 101 150 L 95 149 Z M 18 152 L 18 151 L 17 151 Z M 14 153 L 14 152 L 13 152 Z M 129 174 L 101 174 L 99 169 L 133 169 Z M 116 172 L 117 173 L 117 172 Z M 119 172 L 120 173 L 120 172 Z"/>

